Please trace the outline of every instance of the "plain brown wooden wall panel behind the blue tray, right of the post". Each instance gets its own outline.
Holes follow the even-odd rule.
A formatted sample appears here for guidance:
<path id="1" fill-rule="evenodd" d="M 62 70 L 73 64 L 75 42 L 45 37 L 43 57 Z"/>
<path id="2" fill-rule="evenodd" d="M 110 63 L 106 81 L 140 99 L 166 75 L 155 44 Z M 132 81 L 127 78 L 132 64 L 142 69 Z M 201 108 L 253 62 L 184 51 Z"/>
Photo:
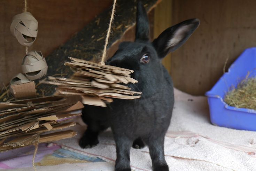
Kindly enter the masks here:
<path id="1" fill-rule="evenodd" d="M 246 48 L 256 46 L 255 0 L 173 0 L 173 24 L 199 18 L 201 25 L 172 53 L 174 86 L 203 95 Z"/>

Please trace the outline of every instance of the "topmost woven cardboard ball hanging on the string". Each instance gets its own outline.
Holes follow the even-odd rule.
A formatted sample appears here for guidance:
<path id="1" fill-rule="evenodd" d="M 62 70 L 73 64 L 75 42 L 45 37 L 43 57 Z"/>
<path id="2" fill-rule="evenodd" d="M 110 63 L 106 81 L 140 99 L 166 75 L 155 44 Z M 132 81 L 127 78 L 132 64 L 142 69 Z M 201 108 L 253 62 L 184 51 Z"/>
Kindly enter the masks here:
<path id="1" fill-rule="evenodd" d="M 23 46 L 31 46 L 36 40 L 38 22 L 29 12 L 24 12 L 13 17 L 10 31 Z"/>

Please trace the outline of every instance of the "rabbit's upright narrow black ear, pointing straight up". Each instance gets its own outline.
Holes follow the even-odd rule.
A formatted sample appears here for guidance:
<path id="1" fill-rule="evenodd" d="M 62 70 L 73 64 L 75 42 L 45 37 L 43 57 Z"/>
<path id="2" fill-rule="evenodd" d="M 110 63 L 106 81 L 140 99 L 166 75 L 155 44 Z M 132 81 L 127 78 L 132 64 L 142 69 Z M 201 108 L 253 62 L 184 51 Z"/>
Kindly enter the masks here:
<path id="1" fill-rule="evenodd" d="M 141 1 L 137 5 L 137 24 L 135 41 L 148 41 L 149 40 L 149 22 L 145 8 Z"/>

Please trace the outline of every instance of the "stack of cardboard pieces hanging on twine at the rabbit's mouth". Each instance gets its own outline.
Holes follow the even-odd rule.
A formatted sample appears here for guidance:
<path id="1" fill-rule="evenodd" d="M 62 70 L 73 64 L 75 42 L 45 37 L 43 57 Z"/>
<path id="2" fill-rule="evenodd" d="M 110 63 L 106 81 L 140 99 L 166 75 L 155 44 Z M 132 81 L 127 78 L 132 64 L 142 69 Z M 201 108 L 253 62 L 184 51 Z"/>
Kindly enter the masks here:
<path id="1" fill-rule="evenodd" d="M 140 92 L 132 91 L 130 87 L 124 85 L 138 82 L 130 76 L 133 70 L 101 65 L 73 57 L 69 59 L 70 61 L 65 62 L 65 65 L 76 73 L 71 79 L 48 77 L 48 80 L 41 83 L 58 85 L 56 91 L 60 94 L 82 95 L 84 104 L 96 106 L 106 107 L 106 102 L 113 101 L 111 98 L 140 98 Z"/>

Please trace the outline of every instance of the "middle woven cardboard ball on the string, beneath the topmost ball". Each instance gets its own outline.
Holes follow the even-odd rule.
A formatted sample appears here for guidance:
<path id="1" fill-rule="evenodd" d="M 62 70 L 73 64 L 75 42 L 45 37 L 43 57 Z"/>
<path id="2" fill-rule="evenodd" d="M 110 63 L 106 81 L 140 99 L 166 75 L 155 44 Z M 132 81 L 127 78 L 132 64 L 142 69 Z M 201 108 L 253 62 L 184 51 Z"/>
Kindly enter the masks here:
<path id="1" fill-rule="evenodd" d="M 48 66 L 40 51 L 31 51 L 23 57 L 21 68 L 28 79 L 35 80 L 46 75 Z"/>

